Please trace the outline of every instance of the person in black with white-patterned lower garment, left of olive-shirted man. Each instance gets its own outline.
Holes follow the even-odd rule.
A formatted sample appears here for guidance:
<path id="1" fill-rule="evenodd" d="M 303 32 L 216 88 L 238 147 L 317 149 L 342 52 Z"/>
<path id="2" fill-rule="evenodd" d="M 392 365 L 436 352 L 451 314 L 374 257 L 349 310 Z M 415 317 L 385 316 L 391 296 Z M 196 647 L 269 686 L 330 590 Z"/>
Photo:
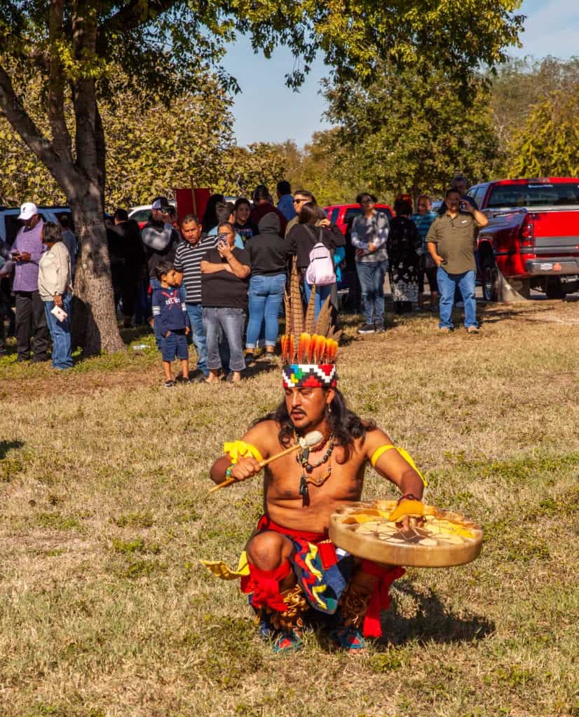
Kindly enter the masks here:
<path id="1" fill-rule="evenodd" d="M 390 258 L 390 288 L 394 313 L 412 311 L 418 302 L 418 265 L 417 249 L 422 245 L 416 224 L 410 219 L 412 206 L 405 199 L 397 199 L 394 204 L 396 216 L 390 222 L 390 233 L 386 240 Z"/>

